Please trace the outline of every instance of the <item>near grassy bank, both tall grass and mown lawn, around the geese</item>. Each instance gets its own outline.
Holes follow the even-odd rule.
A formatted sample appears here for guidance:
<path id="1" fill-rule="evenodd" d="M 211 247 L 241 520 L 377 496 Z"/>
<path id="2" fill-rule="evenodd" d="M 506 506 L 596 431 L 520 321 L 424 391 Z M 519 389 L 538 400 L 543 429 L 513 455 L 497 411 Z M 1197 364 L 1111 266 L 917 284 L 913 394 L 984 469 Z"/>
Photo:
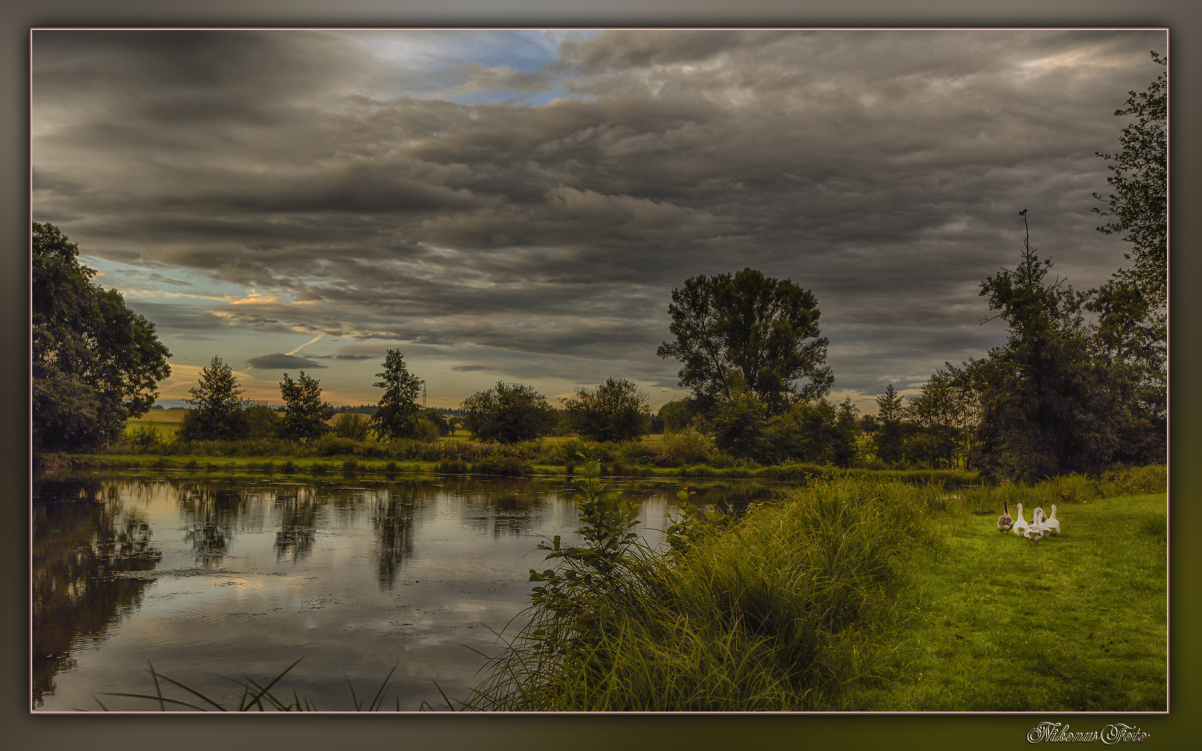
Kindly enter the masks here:
<path id="1" fill-rule="evenodd" d="M 1162 466 L 963 491 L 843 478 L 694 524 L 670 554 L 555 553 L 469 707 L 1162 710 L 1164 487 Z M 999 534 L 1002 497 L 1028 519 L 1057 501 L 1063 534 Z"/>

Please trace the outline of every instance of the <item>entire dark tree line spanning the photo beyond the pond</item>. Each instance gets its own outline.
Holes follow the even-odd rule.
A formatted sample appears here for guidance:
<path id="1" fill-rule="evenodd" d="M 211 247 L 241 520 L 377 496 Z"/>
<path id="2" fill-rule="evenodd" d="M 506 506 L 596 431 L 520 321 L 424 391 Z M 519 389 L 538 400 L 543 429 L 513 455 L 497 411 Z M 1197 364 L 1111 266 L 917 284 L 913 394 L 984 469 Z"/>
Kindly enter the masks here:
<path id="1" fill-rule="evenodd" d="M 1165 60 L 1153 53 L 1156 64 Z M 964 466 L 989 478 L 1036 479 L 1085 472 L 1114 461 L 1165 460 L 1167 427 L 1167 77 L 1130 93 L 1115 115 L 1123 129 L 1107 162 L 1114 191 L 1094 193 L 1111 221 L 1097 227 L 1130 244 L 1129 266 L 1101 287 L 1075 292 L 1049 276 L 1051 258 L 1030 243 L 1013 268 L 981 282 L 988 314 L 1007 340 L 981 359 L 945 363 L 903 399 L 889 385 L 875 416 L 850 399 L 828 399 L 817 299 L 790 279 L 744 268 L 698 275 L 672 292 L 672 341 L 656 350 L 680 362 L 678 385 L 690 391 L 649 415 L 633 382 L 611 377 L 581 387 L 559 407 L 532 387 L 498 382 L 462 404 L 462 424 L 480 440 L 512 443 L 553 433 L 630 441 L 655 427 L 712 435 L 733 457 L 763 464 L 807 461 L 851 466 L 871 455 L 881 466 Z M 32 225 L 34 446 L 61 451 L 120 434 L 147 411 L 169 374 L 169 352 L 154 324 L 130 311 L 115 290 L 90 282 L 78 249 L 52 225 Z M 376 374 L 382 389 L 369 416 L 333 407 L 320 383 L 284 374 L 275 415 L 242 398 L 219 357 L 191 389 L 184 440 L 232 440 L 273 434 L 307 441 L 327 431 L 363 440 L 433 440 L 458 424 L 417 404 L 422 381 L 399 350 Z M 868 436 L 865 440 L 865 435 Z"/>

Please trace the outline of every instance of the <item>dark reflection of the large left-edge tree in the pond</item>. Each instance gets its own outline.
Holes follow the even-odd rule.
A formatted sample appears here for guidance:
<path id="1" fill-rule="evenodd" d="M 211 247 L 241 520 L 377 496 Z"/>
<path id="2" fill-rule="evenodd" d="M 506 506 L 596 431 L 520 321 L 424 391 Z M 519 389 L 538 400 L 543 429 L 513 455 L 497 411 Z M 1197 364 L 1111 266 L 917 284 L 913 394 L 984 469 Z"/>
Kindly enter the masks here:
<path id="1" fill-rule="evenodd" d="M 54 677 L 75 666 L 71 651 L 100 639 L 142 603 L 162 554 L 136 511 L 100 481 L 37 481 L 32 506 L 32 699 L 54 692 Z"/>

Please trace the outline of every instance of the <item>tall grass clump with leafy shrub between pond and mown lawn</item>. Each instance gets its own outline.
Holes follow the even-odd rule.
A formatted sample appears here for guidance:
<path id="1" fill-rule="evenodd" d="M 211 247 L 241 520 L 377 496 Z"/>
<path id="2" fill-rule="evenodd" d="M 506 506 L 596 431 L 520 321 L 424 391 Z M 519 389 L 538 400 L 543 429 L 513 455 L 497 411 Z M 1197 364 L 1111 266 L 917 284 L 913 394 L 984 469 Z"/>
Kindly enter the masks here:
<path id="1" fill-rule="evenodd" d="M 636 542 L 637 508 L 585 465 L 585 546 L 543 546 L 530 624 L 493 658 L 469 708 L 754 711 L 837 708 L 880 680 L 888 630 L 936 493 L 839 481 L 739 520 L 685 506 L 670 552 Z"/>

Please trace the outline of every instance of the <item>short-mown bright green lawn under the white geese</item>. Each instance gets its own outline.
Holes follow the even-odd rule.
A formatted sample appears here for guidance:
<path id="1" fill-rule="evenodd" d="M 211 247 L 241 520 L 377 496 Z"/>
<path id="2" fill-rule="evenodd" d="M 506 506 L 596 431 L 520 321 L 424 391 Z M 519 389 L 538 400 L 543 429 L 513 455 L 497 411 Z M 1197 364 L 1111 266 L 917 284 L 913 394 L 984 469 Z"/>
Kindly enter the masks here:
<path id="1" fill-rule="evenodd" d="M 1064 505 L 1061 535 L 1034 544 L 994 515 L 936 517 L 895 673 L 850 708 L 1164 711 L 1165 514 L 1164 494 Z"/>

